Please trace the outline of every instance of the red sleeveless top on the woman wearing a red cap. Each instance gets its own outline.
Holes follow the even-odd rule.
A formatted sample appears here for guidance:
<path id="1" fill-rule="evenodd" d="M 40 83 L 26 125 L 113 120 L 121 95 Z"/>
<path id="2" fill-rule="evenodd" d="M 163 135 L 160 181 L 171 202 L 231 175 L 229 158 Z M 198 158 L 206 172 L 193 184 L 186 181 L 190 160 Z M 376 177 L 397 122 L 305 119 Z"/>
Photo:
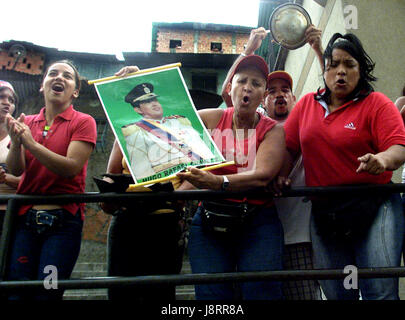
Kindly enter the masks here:
<path id="1" fill-rule="evenodd" d="M 267 132 L 275 125 L 276 121 L 258 113 L 260 121 L 255 129 L 249 131 L 249 136 L 238 140 L 232 131 L 234 108 L 224 109 L 216 128 L 211 130 L 211 136 L 227 161 L 235 161 L 234 165 L 212 170 L 213 174 L 227 175 L 252 170 L 255 164 L 257 150 Z M 251 200 L 255 204 L 263 204 L 267 200 Z"/>

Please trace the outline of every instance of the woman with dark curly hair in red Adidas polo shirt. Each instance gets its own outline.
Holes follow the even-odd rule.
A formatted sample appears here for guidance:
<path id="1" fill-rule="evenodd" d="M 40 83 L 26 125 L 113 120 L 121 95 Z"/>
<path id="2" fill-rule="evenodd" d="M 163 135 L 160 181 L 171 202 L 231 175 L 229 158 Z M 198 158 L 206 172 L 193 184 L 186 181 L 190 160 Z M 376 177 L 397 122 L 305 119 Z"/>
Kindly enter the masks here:
<path id="1" fill-rule="evenodd" d="M 371 86 L 374 63 L 356 36 L 339 33 L 323 60 L 325 89 L 300 99 L 285 123 L 290 156 L 302 153 L 307 186 L 390 183 L 405 161 L 405 128 Z M 316 268 L 400 266 L 403 231 L 399 194 L 312 199 Z M 320 282 L 330 300 L 359 298 L 343 280 Z M 360 279 L 359 288 L 363 299 L 399 298 L 398 278 Z"/>

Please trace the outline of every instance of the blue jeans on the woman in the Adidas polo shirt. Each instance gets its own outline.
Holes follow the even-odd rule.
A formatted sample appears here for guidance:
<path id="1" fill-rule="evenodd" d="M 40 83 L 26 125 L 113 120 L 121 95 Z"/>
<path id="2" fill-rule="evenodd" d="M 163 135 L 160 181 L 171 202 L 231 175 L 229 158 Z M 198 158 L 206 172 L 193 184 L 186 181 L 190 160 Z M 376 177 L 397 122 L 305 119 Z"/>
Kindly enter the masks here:
<path id="1" fill-rule="evenodd" d="M 378 211 L 367 234 L 351 244 L 323 241 L 311 220 L 311 237 L 316 269 L 399 267 L 401 264 L 404 216 L 399 194 L 392 194 Z M 320 280 L 328 300 L 357 300 L 359 292 L 345 289 L 342 280 Z M 363 300 L 399 300 L 398 278 L 358 279 Z"/>

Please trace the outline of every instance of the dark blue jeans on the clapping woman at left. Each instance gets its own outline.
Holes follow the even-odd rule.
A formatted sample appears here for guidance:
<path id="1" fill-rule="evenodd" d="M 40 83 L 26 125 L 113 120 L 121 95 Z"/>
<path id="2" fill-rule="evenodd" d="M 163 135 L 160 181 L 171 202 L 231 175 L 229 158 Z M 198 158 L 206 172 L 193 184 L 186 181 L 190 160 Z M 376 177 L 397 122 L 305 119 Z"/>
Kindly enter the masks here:
<path id="1" fill-rule="evenodd" d="M 11 242 L 7 280 L 44 280 L 50 275 L 45 267 L 55 266 L 58 279 L 68 279 L 80 252 L 83 221 L 65 211 L 60 225 L 38 232 L 38 225 L 27 214 L 17 217 Z M 43 227 L 43 225 L 40 225 Z M 9 300 L 61 300 L 63 290 L 15 291 Z"/>

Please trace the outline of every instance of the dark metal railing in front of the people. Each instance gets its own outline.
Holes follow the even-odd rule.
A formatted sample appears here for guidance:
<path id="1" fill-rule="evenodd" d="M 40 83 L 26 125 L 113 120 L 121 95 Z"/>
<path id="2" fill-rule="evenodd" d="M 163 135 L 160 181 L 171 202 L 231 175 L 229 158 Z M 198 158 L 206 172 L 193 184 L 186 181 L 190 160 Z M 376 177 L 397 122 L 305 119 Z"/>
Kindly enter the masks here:
<path id="1" fill-rule="evenodd" d="M 311 197 L 336 194 L 381 194 L 405 192 L 405 184 L 393 183 L 385 185 L 367 186 L 339 186 L 339 187 L 294 187 L 284 191 L 282 197 Z M 109 201 L 156 201 L 161 200 L 206 200 L 206 199 L 242 199 L 269 198 L 272 193 L 266 190 L 251 190 L 244 192 L 225 191 L 174 191 L 174 192 L 136 192 L 136 193 L 83 193 L 64 194 L 52 196 L 34 195 L 0 195 L 0 203 L 7 203 L 4 218 L 3 233 L 0 239 L 0 280 L 4 279 L 5 267 L 11 240 L 11 232 L 14 227 L 14 218 L 22 204 L 64 204 L 94 203 Z M 404 267 L 389 268 L 362 268 L 358 269 L 358 278 L 391 278 L 405 277 Z M 96 289 L 117 286 L 148 285 L 148 284 L 173 284 L 192 285 L 213 282 L 242 282 L 262 280 L 307 280 L 307 279 L 343 279 L 347 276 L 341 269 L 322 270 L 281 270 L 281 271 L 257 271 L 257 272 L 232 272 L 215 274 L 183 274 L 183 275 L 159 275 L 159 276 L 134 276 L 134 277 L 94 277 L 83 279 L 58 280 L 61 289 Z M 43 281 L 0 281 L 0 290 L 9 289 L 43 288 Z"/>

